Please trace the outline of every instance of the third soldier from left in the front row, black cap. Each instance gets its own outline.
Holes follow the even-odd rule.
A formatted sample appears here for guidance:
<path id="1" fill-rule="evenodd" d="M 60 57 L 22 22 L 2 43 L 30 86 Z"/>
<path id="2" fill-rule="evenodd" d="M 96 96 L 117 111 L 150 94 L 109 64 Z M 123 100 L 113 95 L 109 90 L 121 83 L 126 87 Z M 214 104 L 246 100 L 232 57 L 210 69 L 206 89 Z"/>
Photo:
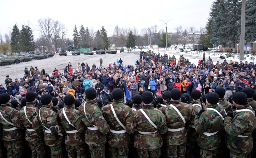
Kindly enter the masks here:
<path id="1" fill-rule="evenodd" d="M 52 110 L 52 96 L 41 96 L 42 108 L 38 112 L 39 120 L 44 128 L 44 142 L 50 147 L 52 158 L 62 158 L 62 141 L 64 130 L 58 123 L 57 114 Z"/>

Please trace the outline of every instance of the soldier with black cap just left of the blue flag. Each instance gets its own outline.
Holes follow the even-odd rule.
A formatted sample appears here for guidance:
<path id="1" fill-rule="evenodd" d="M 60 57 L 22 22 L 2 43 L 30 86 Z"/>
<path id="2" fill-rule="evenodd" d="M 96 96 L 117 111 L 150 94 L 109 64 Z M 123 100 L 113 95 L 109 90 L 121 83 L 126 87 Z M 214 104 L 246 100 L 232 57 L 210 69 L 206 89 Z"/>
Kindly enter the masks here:
<path id="1" fill-rule="evenodd" d="M 112 158 L 127 158 L 129 153 L 130 136 L 134 132 L 132 109 L 123 104 L 123 91 L 114 88 L 113 103 L 102 107 L 102 115 L 110 125 L 107 134 Z"/>

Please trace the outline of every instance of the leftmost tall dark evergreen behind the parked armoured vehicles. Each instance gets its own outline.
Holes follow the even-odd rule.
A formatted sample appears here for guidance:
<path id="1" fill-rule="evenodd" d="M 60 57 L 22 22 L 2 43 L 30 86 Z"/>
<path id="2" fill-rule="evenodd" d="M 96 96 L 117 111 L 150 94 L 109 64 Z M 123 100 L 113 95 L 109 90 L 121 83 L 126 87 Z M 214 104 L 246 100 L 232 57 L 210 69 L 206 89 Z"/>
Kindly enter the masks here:
<path id="1" fill-rule="evenodd" d="M 19 42 L 20 42 L 20 30 L 18 29 L 17 25 L 15 24 L 12 27 L 12 33 L 11 33 L 12 52 L 19 52 L 20 51 Z"/>

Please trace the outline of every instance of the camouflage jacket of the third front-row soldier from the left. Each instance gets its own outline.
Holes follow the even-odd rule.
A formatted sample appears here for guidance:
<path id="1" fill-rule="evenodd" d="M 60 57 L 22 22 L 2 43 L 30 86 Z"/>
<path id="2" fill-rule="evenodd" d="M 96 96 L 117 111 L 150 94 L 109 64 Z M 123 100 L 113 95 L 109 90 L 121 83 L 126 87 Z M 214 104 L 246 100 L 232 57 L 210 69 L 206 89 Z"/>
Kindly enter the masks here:
<path id="1" fill-rule="evenodd" d="M 46 128 L 50 129 L 51 133 L 44 132 L 44 142 L 47 146 L 56 146 L 62 143 L 64 130 L 62 125 L 58 123 L 57 114 L 52 110 L 50 105 L 42 105 L 39 110 L 38 117 L 40 124 L 43 126 L 44 131 Z M 43 123 L 43 124 L 42 124 Z M 46 127 L 46 128 L 45 128 Z"/>

